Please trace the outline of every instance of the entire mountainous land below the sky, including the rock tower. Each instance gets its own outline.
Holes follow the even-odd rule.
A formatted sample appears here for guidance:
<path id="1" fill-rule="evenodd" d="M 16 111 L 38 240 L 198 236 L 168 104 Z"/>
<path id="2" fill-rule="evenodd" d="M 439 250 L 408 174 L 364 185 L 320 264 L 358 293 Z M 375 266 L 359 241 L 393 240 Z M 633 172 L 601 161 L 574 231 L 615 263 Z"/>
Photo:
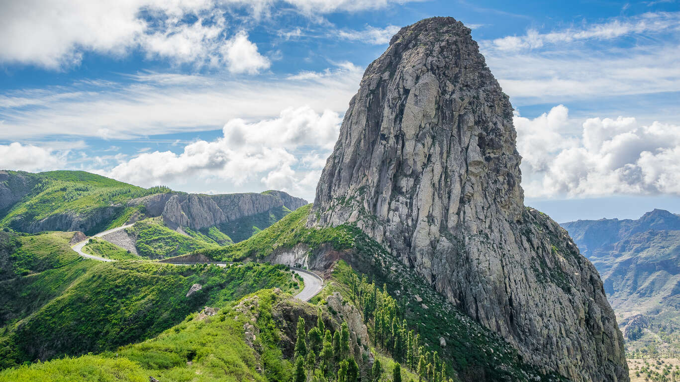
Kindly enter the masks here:
<path id="1" fill-rule="evenodd" d="M 367 67 L 313 204 L 0 171 L 0 381 L 675 378 L 680 218 L 526 207 L 514 117 L 434 17 Z"/>

